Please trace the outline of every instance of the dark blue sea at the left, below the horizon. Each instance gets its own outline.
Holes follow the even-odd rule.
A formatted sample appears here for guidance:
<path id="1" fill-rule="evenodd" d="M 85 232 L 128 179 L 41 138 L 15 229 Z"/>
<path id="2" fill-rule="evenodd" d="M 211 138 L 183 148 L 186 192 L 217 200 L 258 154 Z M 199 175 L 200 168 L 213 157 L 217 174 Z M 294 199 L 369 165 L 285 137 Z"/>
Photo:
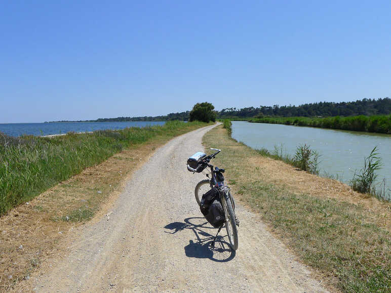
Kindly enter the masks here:
<path id="1" fill-rule="evenodd" d="M 0 123 L 0 132 L 13 137 L 21 135 L 47 136 L 68 132 L 91 132 L 96 130 L 119 130 L 127 127 L 163 125 L 165 121 L 126 122 L 46 122 L 46 123 Z"/>

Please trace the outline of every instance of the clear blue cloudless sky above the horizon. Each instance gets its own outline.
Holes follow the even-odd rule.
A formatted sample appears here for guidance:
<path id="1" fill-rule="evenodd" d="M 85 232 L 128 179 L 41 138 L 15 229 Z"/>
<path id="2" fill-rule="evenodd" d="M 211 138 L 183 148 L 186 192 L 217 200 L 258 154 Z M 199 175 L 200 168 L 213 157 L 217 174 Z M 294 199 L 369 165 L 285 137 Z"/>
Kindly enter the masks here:
<path id="1" fill-rule="evenodd" d="M 2 1 L 0 122 L 390 97 L 390 1 Z"/>

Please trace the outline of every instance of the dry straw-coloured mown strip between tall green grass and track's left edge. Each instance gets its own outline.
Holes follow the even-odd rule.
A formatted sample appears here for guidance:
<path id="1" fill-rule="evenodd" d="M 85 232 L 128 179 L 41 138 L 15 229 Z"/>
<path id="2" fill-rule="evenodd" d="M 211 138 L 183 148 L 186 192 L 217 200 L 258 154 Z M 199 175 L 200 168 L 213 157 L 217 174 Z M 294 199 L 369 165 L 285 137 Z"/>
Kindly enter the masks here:
<path id="1" fill-rule="evenodd" d="M 168 123 L 166 128 L 153 128 L 154 134 L 146 141 L 123 146 L 100 164 L 61 181 L 0 217 L 0 291 L 13 287 L 28 290 L 20 287 L 23 283 L 20 281 L 28 279 L 54 255 L 63 255 L 69 242 L 77 237 L 76 226 L 96 215 L 104 216 L 132 172 L 155 149 L 174 136 L 206 125 L 174 122 Z M 82 138 L 70 136 L 79 141 L 85 134 L 80 135 Z M 69 138 L 58 139 L 54 142 Z"/>

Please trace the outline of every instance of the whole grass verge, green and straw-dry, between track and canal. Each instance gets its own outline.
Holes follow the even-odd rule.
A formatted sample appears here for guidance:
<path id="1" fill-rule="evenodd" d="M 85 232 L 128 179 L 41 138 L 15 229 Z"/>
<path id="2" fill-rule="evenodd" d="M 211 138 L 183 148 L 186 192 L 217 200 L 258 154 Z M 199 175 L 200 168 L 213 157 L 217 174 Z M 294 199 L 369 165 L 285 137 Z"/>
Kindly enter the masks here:
<path id="1" fill-rule="evenodd" d="M 222 149 L 216 164 L 236 197 L 324 280 L 342 291 L 391 287 L 389 203 L 363 198 L 348 186 L 262 157 L 215 128 L 205 147 Z"/>

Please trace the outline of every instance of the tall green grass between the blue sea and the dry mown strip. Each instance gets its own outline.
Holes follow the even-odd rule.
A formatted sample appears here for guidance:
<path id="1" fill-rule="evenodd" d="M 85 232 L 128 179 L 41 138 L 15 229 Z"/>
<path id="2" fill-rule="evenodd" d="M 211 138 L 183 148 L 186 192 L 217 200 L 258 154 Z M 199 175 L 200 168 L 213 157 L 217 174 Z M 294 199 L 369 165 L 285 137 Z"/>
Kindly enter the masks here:
<path id="1" fill-rule="evenodd" d="M 156 136 L 173 137 L 203 125 L 207 124 L 170 121 L 162 126 L 68 133 L 51 138 L 14 138 L 0 133 L 0 216 L 124 148 Z"/>

